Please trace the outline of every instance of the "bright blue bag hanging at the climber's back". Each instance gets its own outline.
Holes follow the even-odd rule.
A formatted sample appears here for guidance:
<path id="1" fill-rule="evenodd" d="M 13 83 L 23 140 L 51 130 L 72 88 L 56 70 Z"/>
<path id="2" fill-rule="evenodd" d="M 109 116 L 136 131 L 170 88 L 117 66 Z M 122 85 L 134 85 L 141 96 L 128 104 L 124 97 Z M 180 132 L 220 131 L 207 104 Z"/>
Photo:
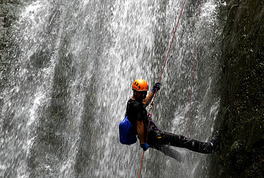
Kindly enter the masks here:
<path id="1" fill-rule="evenodd" d="M 122 144 L 134 144 L 137 142 L 135 133 L 132 131 L 133 125 L 127 119 L 127 116 L 119 124 L 119 139 Z"/>

